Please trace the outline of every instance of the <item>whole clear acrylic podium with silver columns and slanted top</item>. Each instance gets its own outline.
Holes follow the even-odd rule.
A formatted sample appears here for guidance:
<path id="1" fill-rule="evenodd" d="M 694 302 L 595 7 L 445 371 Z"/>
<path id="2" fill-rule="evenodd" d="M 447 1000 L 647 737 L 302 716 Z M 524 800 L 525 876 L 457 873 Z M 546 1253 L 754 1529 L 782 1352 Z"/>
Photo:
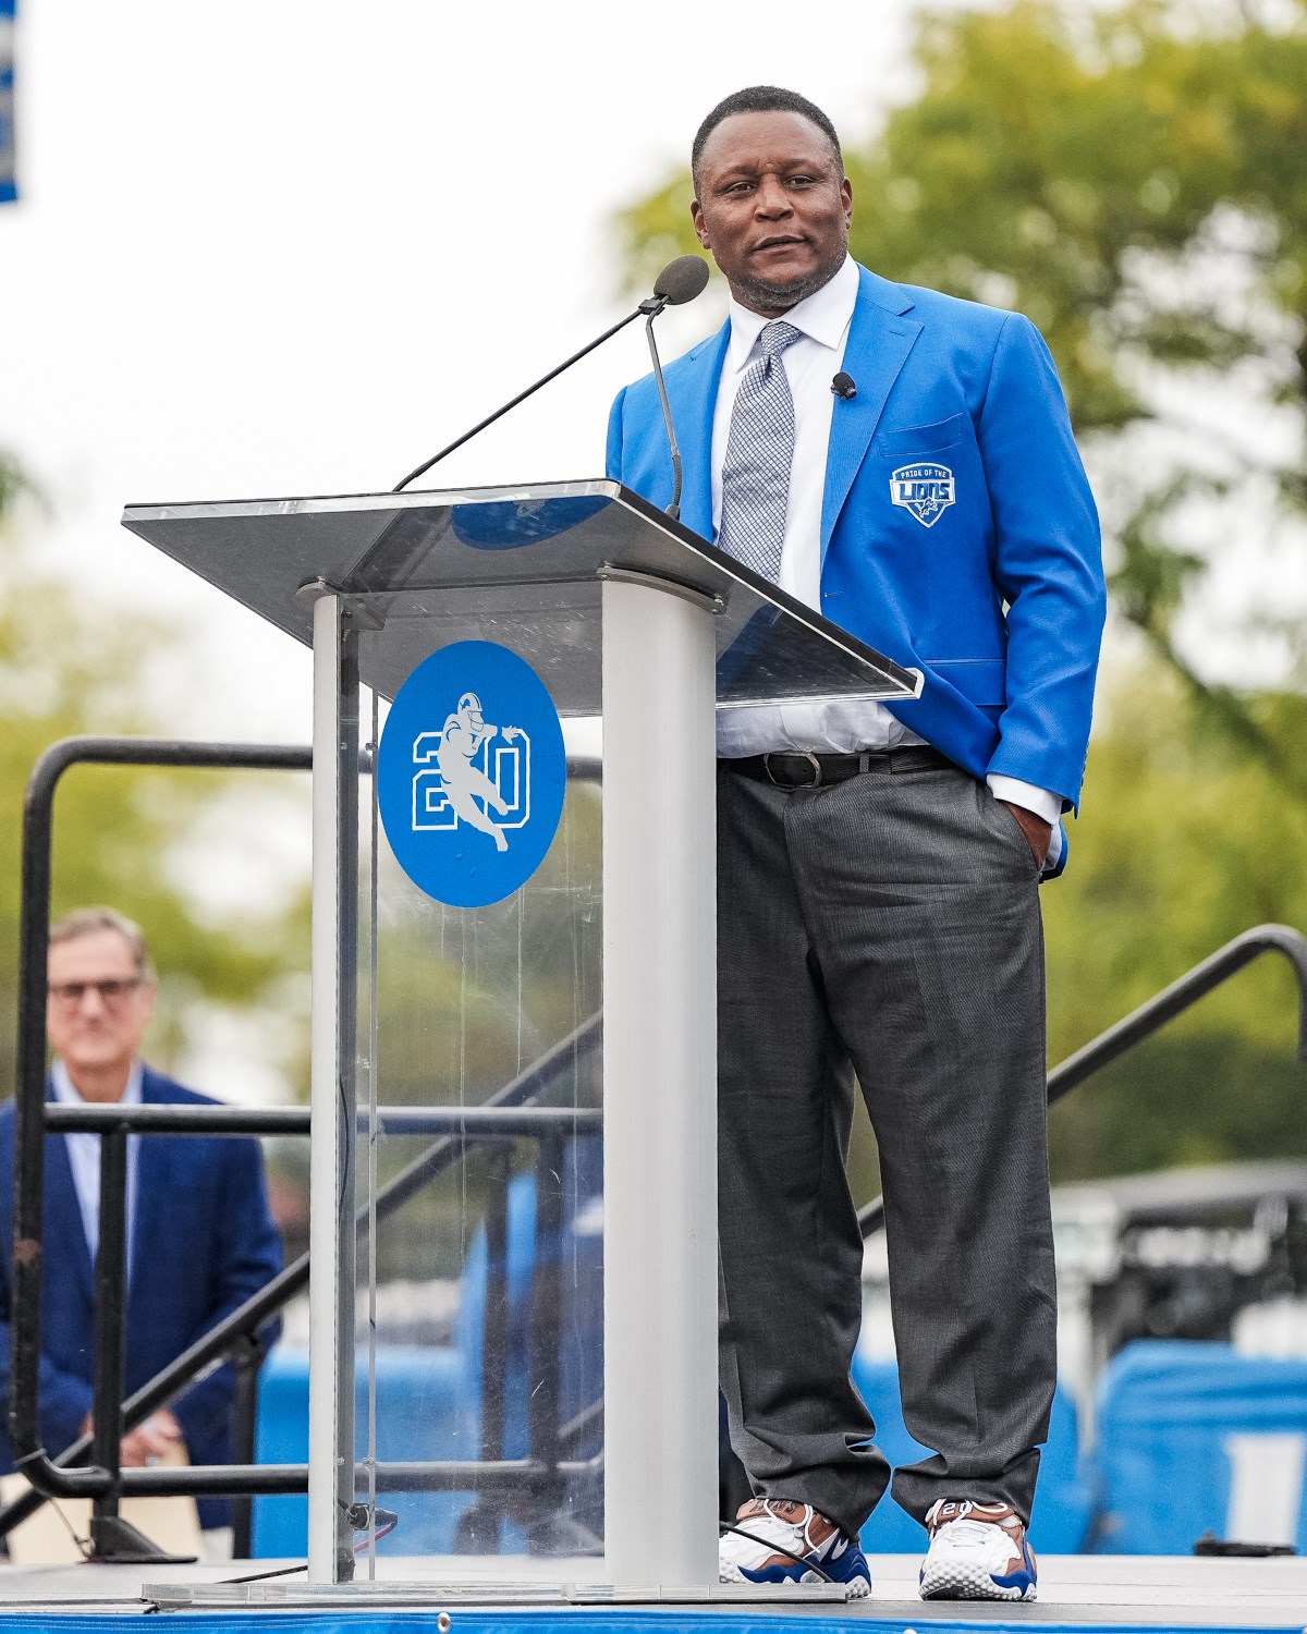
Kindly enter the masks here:
<path id="1" fill-rule="evenodd" d="M 551 1446 L 555 1477 L 562 1467 L 557 1402 L 570 1376 L 593 1371 L 583 1328 L 595 1315 L 578 1314 L 578 1289 L 585 1229 L 601 1221 L 603 1431 L 591 1462 L 603 1518 L 591 1529 L 603 1552 L 572 1562 L 572 1577 L 616 1590 L 714 1582 L 714 708 L 910 698 L 920 675 L 614 482 L 132 505 L 124 525 L 314 649 L 310 1585 L 351 1575 L 356 1498 L 386 1503 L 405 1490 L 405 1467 L 415 1489 L 453 1479 L 422 1477 L 394 1456 L 395 1444 L 422 1441 L 422 1405 L 407 1423 L 379 1415 L 386 1245 L 376 1221 L 356 1234 L 356 1209 L 376 1209 L 400 1155 L 430 1149 L 441 1129 L 466 1145 L 549 1072 L 572 1136 L 587 1118 L 593 1134 L 601 1100 L 603 1165 L 596 1181 L 593 1162 L 569 1155 L 577 1142 L 564 1152 L 524 1123 L 523 1145 L 534 1141 L 526 1157 L 500 1144 L 488 1159 L 523 1170 L 513 1186 L 534 1186 L 534 1252 L 542 1255 L 549 1211 L 557 1250 L 559 1342 L 542 1374 L 529 1373 L 533 1440 L 515 1467 L 547 1484 L 534 1436 Z M 368 776 L 376 699 L 392 698 L 436 649 L 467 639 L 531 663 L 564 719 L 603 717 L 601 802 L 595 768 L 577 761 L 539 874 L 485 910 L 441 909 L 399 876 Z M 371 727 L 359 721 L 361 686 L 372 696 Z M 436 1026 L 435 1015 L 446 1020 Z M 516 1088 L 487 1093 L 500 1082 Z M 417 1136 L 422 1147 L 412 1147 Z M 430 1214 L 423 1240 L 433 1253 L 444 1243 L 456 1266 L 485 1270 L 482 1399 L 475 1422 L 456 1413 L 451 1433 L 464 1454 L 493 1462 L 500 1453 L 505 1467 L 485 1471 L 474 1490 L 479 1503 L 492 1492 L 503 1520 L 513 1511 L 505 1436 L 515 1431 L 502 1395 L 492 1412 L 490 1348 L 513 1338 L 490 1302 L 498 1289 L 511 1306 L 516 1204 L 487 1208 L 482 1222 L 469 1209 L 479 1181 L 466 1165 L 462 1176 L 457 1209 Z M 552 1425 L 539 1422 L 541 1377 L 552 1379 Z M 435 1386 L 423 1399 L 435 1400 Z M 389 1458 L 379 1451 L 387 1440 Z M 374 1538 L 374 1520 L 371 1528 Z M 374 1567 L 374 1542 L 369 1559 Z"/>

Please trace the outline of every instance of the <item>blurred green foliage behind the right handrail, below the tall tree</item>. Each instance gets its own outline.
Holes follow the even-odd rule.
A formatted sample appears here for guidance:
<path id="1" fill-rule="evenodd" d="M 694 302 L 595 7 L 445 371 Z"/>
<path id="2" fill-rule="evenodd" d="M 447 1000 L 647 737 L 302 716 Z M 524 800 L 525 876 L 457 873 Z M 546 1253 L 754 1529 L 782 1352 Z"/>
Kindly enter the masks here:
<path id="1" fill-rule="evenodd" d="M 1104 693 L 1090 804 L 1065 876 L 1042 894 L 1054 1062 L 1248 926 L 1307 926 L 1307 806 L 1212 737 L 1160 665 L 1111 676 Z M 1307 699 L 1250 709 L 1307 755 Z M 1292 974 L 1265 956 L 1054 1109 L 1054 1175 L 1307 1155 L 1296 1042 Z"/>

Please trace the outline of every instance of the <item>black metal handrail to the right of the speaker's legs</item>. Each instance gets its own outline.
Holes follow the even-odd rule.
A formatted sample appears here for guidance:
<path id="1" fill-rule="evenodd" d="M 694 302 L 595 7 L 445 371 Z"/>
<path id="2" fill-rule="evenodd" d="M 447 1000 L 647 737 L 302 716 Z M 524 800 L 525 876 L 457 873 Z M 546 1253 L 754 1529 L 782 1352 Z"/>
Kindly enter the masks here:
<path id="1" fill-rule="evenodd" d="M 1170 987 L 1153 993 L 1137 1010 L 1059 1062 L 1047 1080 L 1049 1106 L 1060 1101 L 1064 1095 L 1070 1095 L 1073 1088 L 1124 1056 L 1126 1051 L 1134 1049 L 1142 1039 L 1150 1038 L 1158 1028 L 1183 1015 L 1199 998 L 1206 998 L 1214 987 L 1220 987 L 1245 964 L 1260 959 L 1263 953 L 1282 954 L 1297 977 L 1297 1057 L 1307 1060 L 1307 936 L 1302 936 L 1291 925 L 1256 925 L 1235 936 L 1233 941 L 1227 941 L 1224 948 L 1217 948 L 1214 954 L 1186 971 Z M 884 1224 L 884 1198 L 872 1198 L 858 1211 L 863 1240 L 872 1237 Z"/>

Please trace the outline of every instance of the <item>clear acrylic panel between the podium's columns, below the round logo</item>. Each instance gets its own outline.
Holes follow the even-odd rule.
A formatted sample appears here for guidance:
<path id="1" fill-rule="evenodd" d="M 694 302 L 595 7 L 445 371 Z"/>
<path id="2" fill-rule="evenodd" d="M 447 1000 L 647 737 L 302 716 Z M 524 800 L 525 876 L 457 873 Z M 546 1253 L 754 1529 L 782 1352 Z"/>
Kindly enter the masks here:
<path id="1" fill-rule="evenodd" d="M 598 1556 L 600 788 L 569 778 L 526 886 L 454 909 L 402 873 L 359 783 L 356 1575 Z"/>

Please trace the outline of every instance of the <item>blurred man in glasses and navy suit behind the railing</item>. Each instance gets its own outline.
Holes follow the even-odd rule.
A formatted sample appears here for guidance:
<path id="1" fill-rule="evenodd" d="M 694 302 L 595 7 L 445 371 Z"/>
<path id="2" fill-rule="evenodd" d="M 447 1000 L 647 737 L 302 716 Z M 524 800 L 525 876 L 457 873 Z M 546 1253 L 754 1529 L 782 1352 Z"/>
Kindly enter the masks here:
<path id="1" fill-rule="evenodd" d="M 142 1065 L 155 974 L 145 941 L 113 909 L 82 909 L 51 928 L 47 1036 L 51 1100 L 209 1103 Z M 209 1103 L 211 1105 L 211 1103 Z M 13 1105 L 0 1109 L 0 1217 L 13 1217 Z M 46 1141 L 41 1284 L 41 1438 L 56 1456 L 91 1428 L 100 1141 Z M 175 1361 L 281 1270 L 263 1157 L 253 1139 L 129 1137 L 126 1389 Z M 8 1444 L 10 1265 L 0 1258 L 0 1472 Z M 193 1464 L 232 1458 L 235 1374 L 224 1364 L 123 1440 L 124 1467 L 158 1462 L 181 1443 Z M 222 1498 L 199 1498 L 209 1533 L 230 1525 Z M 206 1547 L 214 1549 L 216 1539 Z M 221 1551 L 221 1544 L 214 1552 Z"/>

